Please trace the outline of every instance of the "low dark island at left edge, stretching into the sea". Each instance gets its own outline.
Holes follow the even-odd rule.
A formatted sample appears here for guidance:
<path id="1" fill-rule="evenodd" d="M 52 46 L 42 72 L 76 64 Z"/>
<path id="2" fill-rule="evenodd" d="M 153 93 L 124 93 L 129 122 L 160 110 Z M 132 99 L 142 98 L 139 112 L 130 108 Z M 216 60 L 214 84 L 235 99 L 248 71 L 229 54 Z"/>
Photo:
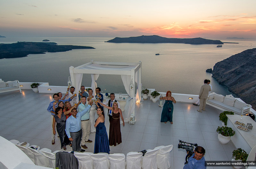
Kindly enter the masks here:
<path id="1" fill-rule="evenodd" d="M 95 49 L 88 46 L 57 45 L 55 42 L 17 42 L 0 44 L 0 59 L 25 57 L 29 54 L 44 54 L 45 52 L 66 52 L 72 49 Z"/>

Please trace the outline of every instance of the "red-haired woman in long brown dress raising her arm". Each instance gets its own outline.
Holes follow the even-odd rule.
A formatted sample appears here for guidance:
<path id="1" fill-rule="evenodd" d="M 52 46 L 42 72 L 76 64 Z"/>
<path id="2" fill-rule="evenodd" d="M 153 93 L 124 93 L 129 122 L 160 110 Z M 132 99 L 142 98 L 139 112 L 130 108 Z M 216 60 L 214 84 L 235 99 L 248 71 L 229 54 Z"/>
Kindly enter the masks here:
<path id="1" fill-rule="evenodd" d="M 111 110 L 112 113 L 112 119 L 110 120 L 110 125 L 109 125 L 109 145 L 118 145 L 122 143 L 122 135 L 121 135 L 121 128 L 120 128 L 120 117 L 123 121 L 123 126 L 124 126 L 124 118 L 122 114 L 122 110 L 118 108 L 118 105 L 116 102 L 113 103 L 113 107 L 108 107 L 104 105 L 103 103 L 100 102 L 98 99 L 98 102 L 103 106 Z M 117 144 L 116 144 L 117 143 Z"/>

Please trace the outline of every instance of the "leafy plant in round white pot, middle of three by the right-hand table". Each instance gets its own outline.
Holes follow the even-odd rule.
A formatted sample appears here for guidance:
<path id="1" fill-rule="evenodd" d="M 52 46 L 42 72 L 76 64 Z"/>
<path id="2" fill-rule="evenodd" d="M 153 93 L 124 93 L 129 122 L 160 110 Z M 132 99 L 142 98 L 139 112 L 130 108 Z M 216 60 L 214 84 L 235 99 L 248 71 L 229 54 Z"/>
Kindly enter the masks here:
<path id="1" fill-rule="evenodd" d="M 236 133 L 231 127 L 228 126 L 218 126 L 216 132 L 219 133 L 218 139 L 221 144 L 227 144 L 230 141 L 231 136 L 234 136 Z"/>

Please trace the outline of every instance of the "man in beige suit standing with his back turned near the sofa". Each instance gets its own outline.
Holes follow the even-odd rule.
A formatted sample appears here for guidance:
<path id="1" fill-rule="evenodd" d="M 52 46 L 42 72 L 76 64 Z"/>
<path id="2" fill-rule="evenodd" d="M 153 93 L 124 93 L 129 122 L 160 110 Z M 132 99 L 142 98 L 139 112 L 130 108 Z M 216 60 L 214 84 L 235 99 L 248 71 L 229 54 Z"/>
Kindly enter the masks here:
<path id="1" fill-rule="evenodd" d="M 202 112 L 202 110 L 205 111 L 205 106 L 206 106 L 206 99 L 208 98 L 208 93 L 211 90 L 211 86 L 207 84 L 208 80 L 205 79 L 204 80 L 204 85 L 201 86 L 200 92 L 199 92 L 199 101 L 200 101 L 200 106 L 199 106 L 199 110 L 197 110 L 198 112 Z"/>

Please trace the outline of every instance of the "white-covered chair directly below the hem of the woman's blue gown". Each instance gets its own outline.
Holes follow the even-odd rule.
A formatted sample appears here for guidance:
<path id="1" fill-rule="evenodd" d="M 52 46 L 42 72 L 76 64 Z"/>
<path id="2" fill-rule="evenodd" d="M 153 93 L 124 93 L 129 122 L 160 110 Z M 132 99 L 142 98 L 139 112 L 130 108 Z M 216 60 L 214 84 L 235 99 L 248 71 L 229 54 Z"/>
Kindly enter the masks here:
<path id="1" fill-rule="evenodd" d="M 92 154 L 91 158 L 95 169 L 109 169 L 108 153 Z"/>

